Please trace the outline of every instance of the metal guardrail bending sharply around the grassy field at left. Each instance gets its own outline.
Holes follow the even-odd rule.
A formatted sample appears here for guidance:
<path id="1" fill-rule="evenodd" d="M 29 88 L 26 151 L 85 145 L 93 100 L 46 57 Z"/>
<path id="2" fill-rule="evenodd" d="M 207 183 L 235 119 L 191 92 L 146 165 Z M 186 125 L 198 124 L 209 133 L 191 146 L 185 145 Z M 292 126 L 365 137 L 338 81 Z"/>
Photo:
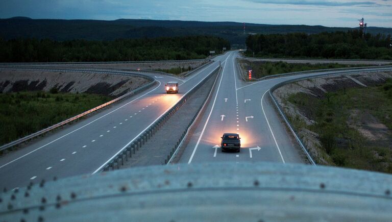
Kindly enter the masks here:
<path id="1" fill-rule="evenodd" d="M 0 70 L 2 70 L 2 69 L 8 69 L 8 68 L 0 68 Z M 11 69 L 14 69 L 14 68 L 11 68 Z M 20 68 L 20 69 L 26 70 L 24 68 Z M 27 70 L 29 70 L 29 69 L 27 69 Z M 127 97 L 129 95 L 135 94 L 137 92 L 140 92 L 141 90 L 146 89 L 146 88 L 148 88 L 148 87 L 150 87 L 150 86 L 152 86 L 153 84 L 156 83 L 155 79 L 152 78 L 152 77 L 141 75 L 141 74 L 138 74 L 138 73 L 130 73 L 130 72 L 120 72 L 120 71 L 109 71 L 108 72 L 108 71 L 91 71 L 91 70 L 79 70 L 79 69 L 34 69 L 34 70 L 43 70 L 43 71 L 50 70 L 50 71 L 62 71 L 62 72 L 84 72 L 84 73 L 97 73 L 97 72 L 99 72 L 99 73 L 112 74 L 112 75 L 140 77 L 140 78 L 144 78 L 144 79 L 149 80 L 150 83 L 145 84 L 144 86 L 140 86 L 140 87 L 132 90 L 131 92 L 128 92 L 128 93 L 126 93 L 124 95 L 121 95 L 121 96 L 115 98 L 112 101 L 109 101 L 109 102 L 107 102 L 105 104 L 102 104 L 100 106 L 92 108 L 92 109 L 90 109 L 90 110 L 88 110 L 86 112 L 83 112 L 83 113 L 79 114 L 79 115 L 76 115 L 74 117 L 66 119 L 66 120 L 64 120 L 62 122 L 59 122 L 58 124 L 55 124 L 55 125 L 53 125 L 51 127 L 48 127 L 46 129 L 43 129 L 43 130 L 40 130 L 38 132 L 35 132 L 33 134 L 30 134 L 30 135 L 25 136 L 25 137 L 20 138 L 20 139 L 17 139 L 15 141 L 10 142 L 10 143 L 4 144 L 4 145 L 0 146 L 0 153 L 3 153 L 5 150 L 9 149 L 10 147 L 13 147 L 13 146 L 18 145 L 18 144 L 20 144 L 22 142 L 26 142 L 26 141 L 28 141 L 30 139 L 33 139 L 33 138 L 35 138 L 35 137 L 37 137 L 39 135 L 42 135 L 44 133 L 47 133 L 47 132 L 52 131 L 54 129 L 57 129 L 57 128 L 61 127 L 61 126 L 64 126 L 64 125 L 68 124 L 69 122 L 75 121 L 75 120 L 77 120 L 77 119 L 79 119 L 79 118 L 81 118 L 81 117 L 83 117 L 83 116 L 85 116 L 87 114 L 90 114 L 90 113 L 92 113 L 92 112 L 94 112 L 96 110 L 102 109 L 103 107 L 106 107 L 106 106 L 108 106 L 110 104 L 113 104 L 113 103 L 115 103 L 115 102 L 117 102 L 119 100 L 122 100 L 122 98 L 125 98 L 125 97 Z"/>

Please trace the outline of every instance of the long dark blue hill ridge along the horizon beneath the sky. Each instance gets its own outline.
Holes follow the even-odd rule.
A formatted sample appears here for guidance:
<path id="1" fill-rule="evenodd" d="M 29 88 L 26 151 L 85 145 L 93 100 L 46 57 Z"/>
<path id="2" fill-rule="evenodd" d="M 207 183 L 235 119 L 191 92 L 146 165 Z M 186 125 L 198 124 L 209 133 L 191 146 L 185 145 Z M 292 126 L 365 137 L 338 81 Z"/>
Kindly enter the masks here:
<path id="1" fill-rule="evenodd" d="M 243 34 L 240 22 L 205 22 L 179 20 L 63 20 L 31 19 L 13 17 L 0 19 L 0 37 L 3 39 L 37 38 L 53 40 L 114 40 L 119 38 L 155 38 L 173 36 L 212 35 L 229 40 L 232 44 L 244 45 L 249 33 L 272 34 L 304 32 L 347 31 L 353 28 L 336 28 L 305 25 L 271 25 L 246 23 Z M 392 34 L 392 28 L 369 27 L 370 33 Z"/>

